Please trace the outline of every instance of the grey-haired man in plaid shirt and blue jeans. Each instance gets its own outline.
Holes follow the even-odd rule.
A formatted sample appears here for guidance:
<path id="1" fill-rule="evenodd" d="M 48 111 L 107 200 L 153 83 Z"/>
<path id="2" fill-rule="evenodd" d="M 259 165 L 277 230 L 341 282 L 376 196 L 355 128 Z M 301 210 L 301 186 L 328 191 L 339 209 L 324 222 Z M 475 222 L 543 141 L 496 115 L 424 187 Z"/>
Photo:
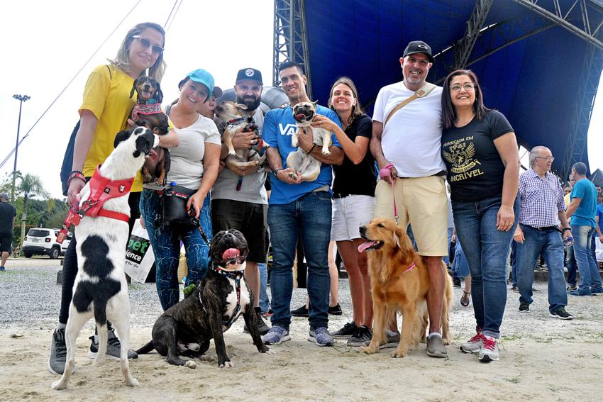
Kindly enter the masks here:
<path id="1" fill-rule="evenodd" d="M 548 267 L 549 316 L 571 320 L 565 311 L 568 294 L 563 274 L 563 238 L 571 233 L 565 217 L 565 201 L 558 177 L 549 172 L 553 154 L 547 147 L 533 147 L 530 151 L 530 167 L 519 176 L 521 213 L 515 230 L 517 242 L 517 286 L 519 287 L 519 311 L 528 313 L 532 303 L 534 266 L 539 255 Z M 558 229 L 561 222 L 562 232 Z"/>

